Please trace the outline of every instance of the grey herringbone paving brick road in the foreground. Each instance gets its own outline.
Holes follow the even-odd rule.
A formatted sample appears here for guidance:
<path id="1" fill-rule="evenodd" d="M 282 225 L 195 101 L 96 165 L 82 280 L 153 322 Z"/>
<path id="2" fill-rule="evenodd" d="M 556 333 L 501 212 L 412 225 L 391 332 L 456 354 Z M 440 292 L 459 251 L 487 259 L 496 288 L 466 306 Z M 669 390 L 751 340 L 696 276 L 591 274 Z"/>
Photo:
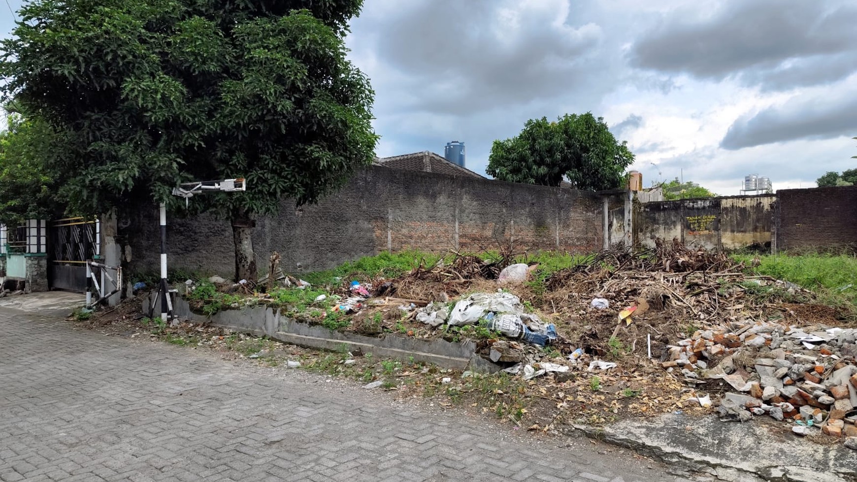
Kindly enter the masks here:
<path id="1" fill-rule="evenodd" d="M 6 482 L 684 480 L 627 451 L 566 443 L 0 308 Z"/>

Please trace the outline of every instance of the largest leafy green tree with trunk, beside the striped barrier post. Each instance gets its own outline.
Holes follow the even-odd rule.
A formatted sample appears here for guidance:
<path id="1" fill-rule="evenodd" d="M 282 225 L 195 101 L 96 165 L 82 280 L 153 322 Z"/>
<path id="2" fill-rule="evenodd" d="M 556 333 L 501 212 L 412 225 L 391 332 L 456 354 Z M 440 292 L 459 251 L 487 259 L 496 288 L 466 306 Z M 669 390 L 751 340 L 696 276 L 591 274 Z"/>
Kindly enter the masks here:
<path id="1" fill-rule="evenodd" d="M 57 131 L 51 168 L 76 212 L 175 206 L 179 182 L 247 179 L 191 204 L 231 219 L 236 276 L 252 279 L 255 217 L 315 202 L 374 157 L 374 92 L 345 57 L 362 3 L 34 0 L 0 74 Z"/>

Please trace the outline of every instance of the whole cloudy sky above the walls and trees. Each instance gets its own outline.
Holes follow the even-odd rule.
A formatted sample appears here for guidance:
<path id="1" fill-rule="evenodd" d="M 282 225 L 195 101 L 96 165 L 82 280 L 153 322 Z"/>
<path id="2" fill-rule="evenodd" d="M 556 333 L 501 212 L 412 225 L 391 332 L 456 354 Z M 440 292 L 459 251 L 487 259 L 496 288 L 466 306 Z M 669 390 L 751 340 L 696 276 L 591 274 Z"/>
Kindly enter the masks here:
<path id="1" fill-rule="evenodd" d="M 463 140 L 484 174 L 527 119 L 591 111 L 647 186 L 811 187 L 857 166 L 853 0 L 365 0 L 351 30 L 380 156 Z"/>

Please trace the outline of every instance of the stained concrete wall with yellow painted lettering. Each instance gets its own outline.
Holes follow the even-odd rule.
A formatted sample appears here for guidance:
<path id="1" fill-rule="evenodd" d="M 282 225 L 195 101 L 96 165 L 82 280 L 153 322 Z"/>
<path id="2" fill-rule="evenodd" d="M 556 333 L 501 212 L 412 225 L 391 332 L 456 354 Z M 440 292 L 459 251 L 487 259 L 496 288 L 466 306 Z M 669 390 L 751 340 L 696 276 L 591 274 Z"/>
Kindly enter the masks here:
<path id="1" fill-rule="evenodd" d="M 776 196 L 734 196 L 638 204 L 634 239 L 645 247 L 678 239 L 708 249 L 770 247 Z"/>

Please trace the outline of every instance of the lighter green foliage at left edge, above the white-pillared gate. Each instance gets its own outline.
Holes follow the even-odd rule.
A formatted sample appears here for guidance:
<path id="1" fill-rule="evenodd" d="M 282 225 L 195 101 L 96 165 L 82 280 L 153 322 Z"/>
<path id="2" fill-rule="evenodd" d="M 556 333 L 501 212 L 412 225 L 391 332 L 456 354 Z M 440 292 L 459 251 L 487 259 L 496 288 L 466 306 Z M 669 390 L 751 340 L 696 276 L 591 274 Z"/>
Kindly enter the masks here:
<path id="1" fill-rule="evenodd" d="M 50 126 L 18 113 L 8 119 L 9 128 L 0 132 L 0 223 L 21 226 L 27 219 L 63 214 L 58 178 L 46 167 L 56 155 Z"/>

